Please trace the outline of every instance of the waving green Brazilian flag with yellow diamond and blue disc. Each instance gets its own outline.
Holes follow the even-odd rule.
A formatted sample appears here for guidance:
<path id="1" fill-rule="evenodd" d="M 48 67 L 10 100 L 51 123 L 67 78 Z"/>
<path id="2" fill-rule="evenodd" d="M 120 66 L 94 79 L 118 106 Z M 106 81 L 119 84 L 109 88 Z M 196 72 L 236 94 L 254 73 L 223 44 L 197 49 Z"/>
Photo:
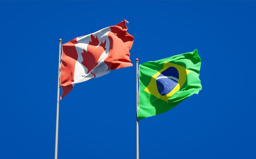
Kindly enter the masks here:
<path id="1" fill-rule="evenodd" d="M 139 120 L 169 111 L 202 89 L 198 50 L 139 65 Z"/>

